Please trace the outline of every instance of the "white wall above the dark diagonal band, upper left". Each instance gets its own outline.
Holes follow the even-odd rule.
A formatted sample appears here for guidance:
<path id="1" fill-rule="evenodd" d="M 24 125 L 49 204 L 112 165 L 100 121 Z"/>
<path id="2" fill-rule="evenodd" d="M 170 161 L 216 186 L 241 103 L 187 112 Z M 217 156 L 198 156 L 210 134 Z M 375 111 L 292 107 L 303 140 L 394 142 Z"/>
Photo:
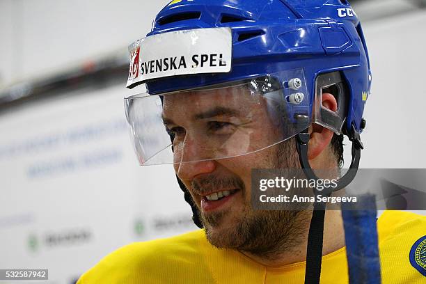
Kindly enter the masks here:
<path id="1" fill-rule="evenodd" d="M 0 86 L 126 49 L 167 0 L 1 0 Z"/>

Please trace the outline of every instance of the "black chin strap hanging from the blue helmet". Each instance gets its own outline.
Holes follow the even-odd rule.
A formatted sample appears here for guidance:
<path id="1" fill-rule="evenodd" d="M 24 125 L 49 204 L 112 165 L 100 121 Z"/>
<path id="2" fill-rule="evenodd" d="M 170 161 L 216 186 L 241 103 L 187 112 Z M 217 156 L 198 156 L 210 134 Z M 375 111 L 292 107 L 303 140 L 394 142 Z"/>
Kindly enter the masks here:
<path id="1" fill-rule="evenodd" d="M 345 188 L 352 180 L 354 180 L 356 172 L 358 171 L 359 159 L 361 158 L 361 149 L 363 144 L 359 132 L 356 132 L 354 125 L 352 125 L 352 133 L 348 134 L 349 140 L 352 141 L 352 162 L 347 173 L 340 178 L 336 183 L 337 187 L 322 191 L 322 195 L 331 196 L 333 191 Z M 296 139 L 297 152 L 299 153 L 299 161 L 303 172 L 308 180 L 319 180 L 315 175 L 313 169 L 310 167 L 308 159 L 308 142 L 309 133 L 308 128 L 304 129 L 301 133 L 297 134 Z M 317 191 L 314 189 L 315 200 L 317 200 Z M 309 226 L 308 234 L 308 248 L 306 251 L 306 284 L 319 284 L 321 276 L 322 264 L 322 242 L 324 238 L 324 217 L 325 217 L 326 203 L 317 202 L 313 204 L 313 214 Z"/>

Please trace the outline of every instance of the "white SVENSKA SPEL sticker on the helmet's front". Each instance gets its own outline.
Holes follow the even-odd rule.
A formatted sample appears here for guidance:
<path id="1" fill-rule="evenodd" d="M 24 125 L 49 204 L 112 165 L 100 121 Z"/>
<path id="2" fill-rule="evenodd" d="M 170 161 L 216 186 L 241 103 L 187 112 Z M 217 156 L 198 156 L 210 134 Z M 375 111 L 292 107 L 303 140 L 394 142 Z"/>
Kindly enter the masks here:
<path id="1" fill-rule="evenodd" d="M 149 79 L 185 74 L 230 72 L 230 28 L 172 31 L 137 40 L 129 46 L 127 86 Z"/>

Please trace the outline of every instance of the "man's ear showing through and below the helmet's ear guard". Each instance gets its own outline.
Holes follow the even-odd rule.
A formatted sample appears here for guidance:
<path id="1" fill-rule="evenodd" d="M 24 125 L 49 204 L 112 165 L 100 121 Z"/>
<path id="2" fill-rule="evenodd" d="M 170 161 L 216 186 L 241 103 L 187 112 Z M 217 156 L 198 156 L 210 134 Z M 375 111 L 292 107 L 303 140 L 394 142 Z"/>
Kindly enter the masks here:
<path id="1" fill-rule="evenodd" d="M 337 111 L 336 98 L 331 93 L 322 94 L 322 106 L 331 111 Z M 333 132 L 321 125 L 313 124 L 309 127 L 308 159 L 315 159 L 330 144 Z"/>

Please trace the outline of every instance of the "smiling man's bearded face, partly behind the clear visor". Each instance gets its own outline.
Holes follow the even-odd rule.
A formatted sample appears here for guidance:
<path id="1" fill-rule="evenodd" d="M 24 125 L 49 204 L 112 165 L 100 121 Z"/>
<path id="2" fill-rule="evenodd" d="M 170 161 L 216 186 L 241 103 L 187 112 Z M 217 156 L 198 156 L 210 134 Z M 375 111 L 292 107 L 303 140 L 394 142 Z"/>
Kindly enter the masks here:
<path id="1" fill-rule="evenodd" d="M 292 139 L 267 147 L 283 140 L 267 108 L 246 86 L 164 97 L 175 172 L 215 246 L 268 253 L 295 230 L 297 212 L 251 208 L 252 168 L 299 168 Z"/>

